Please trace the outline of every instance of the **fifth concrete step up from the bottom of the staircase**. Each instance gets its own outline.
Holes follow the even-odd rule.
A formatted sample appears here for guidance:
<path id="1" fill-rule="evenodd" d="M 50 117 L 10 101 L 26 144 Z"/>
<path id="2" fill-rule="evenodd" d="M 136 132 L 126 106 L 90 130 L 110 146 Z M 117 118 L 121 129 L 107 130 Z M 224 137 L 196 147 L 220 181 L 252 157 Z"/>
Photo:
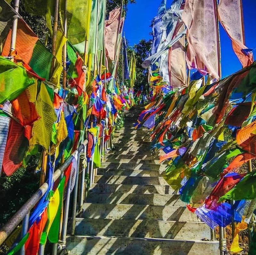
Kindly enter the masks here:
<path id="1" fill-rule="evenodd" d="M 94 193 L 174 194 L 169 185 L 93 184 Z"/>

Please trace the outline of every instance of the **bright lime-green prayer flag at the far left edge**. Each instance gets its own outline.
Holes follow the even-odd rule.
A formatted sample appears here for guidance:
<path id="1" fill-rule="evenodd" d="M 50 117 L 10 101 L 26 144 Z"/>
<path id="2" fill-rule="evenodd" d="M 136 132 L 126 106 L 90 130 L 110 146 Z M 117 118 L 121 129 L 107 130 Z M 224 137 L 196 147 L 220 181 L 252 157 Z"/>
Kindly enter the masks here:
<path id="1" fill-rule="evenodd" d="M 27 75 L 26 69 L 0 57 L 0 103 L 17 98 L 35 80 Z"/>

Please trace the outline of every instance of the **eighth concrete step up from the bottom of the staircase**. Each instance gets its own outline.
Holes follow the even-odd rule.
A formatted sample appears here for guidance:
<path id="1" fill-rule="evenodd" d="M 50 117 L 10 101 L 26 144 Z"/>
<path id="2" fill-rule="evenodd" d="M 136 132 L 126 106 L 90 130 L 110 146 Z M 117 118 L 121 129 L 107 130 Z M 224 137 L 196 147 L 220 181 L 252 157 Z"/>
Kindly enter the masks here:
<path id="1" fill-rule="evenodd" d="M 109 169 L 134 169 L 134 170 L 165 170 L 166 165 L 146 164 L 146 163 L 101 163 L 101 168 Z"/>

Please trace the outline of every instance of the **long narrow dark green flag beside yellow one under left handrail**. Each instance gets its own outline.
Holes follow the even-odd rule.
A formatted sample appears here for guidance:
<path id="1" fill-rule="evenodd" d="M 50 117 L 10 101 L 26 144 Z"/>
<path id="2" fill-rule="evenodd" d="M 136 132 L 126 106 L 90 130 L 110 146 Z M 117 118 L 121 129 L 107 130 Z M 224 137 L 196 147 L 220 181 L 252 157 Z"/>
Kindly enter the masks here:
<path id="1" fill-rule="evenodd" d="M 59 190 L 60 194 L 60 203 L 58 207 L 57 214 L 54 218 L 52 226 L 48 233 L 48 239 L 51 243 L 58 243 L 59 241 L 59 230 L 60 230 L 60 222 L 61 222 L 61 211 L 62 211 L 62 199 L 63 199 L 63 191 L 65 185 L 65 176 L 61 179 L 59 186 L 57 189 Z"/>

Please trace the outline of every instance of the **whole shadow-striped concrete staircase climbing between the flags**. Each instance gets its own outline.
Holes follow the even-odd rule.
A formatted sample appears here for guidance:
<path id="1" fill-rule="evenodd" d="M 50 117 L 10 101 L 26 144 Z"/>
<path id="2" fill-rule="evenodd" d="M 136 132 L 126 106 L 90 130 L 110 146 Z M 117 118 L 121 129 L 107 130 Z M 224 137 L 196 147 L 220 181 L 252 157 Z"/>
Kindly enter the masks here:
<path id="1" fill-rule="evenodd" d="M 148 130 L 133 124 L 142 107 L 132 108 L 114 135 L 95 183 L 67 238 L 71 255 L 219 254 L 210 228 L 186 209 L 161 177 L 164 164 L 152 155 Z M 206 240 L 206 241 L 203 241 Z"/>

